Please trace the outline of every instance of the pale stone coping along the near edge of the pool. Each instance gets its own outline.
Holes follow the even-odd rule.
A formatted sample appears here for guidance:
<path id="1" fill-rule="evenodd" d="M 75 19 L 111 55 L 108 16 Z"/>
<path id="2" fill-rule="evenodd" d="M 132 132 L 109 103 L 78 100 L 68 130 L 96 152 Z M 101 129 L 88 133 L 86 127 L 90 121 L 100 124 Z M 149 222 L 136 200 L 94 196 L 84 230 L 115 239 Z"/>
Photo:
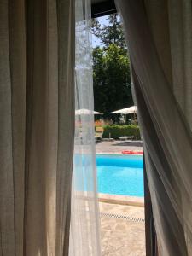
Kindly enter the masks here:
<path id="1" fill-rule="evenodd" d="M 98 193 L 98 200 L 111 204 L 144 207 L 144 197 Z"/>

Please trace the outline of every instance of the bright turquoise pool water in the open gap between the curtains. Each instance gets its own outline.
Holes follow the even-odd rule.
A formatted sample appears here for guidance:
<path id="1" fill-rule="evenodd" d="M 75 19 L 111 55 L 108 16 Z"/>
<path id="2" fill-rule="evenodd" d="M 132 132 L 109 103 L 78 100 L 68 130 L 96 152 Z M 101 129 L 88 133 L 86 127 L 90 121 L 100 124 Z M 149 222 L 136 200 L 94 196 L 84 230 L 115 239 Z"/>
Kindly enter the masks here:
<path id="1" fill-rule="evenodd" d="M 98 192 L 144 196 L 143 156 L 97 154 Z"/>

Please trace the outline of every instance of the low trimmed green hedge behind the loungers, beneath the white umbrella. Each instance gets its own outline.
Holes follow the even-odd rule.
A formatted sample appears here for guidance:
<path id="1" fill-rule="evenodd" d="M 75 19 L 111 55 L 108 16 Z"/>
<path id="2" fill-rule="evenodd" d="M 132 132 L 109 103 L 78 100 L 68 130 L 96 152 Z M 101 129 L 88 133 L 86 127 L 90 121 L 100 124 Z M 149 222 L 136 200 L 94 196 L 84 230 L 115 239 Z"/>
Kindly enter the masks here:
<path id="1" fill-rule="evenodd" d="M 108 138 L 110 132 L 114 139 L 121 136 L 133 136 L 134 139 L 141 139 L 138 125 L 105 125 L 103 128 L 103 138 Z"/>

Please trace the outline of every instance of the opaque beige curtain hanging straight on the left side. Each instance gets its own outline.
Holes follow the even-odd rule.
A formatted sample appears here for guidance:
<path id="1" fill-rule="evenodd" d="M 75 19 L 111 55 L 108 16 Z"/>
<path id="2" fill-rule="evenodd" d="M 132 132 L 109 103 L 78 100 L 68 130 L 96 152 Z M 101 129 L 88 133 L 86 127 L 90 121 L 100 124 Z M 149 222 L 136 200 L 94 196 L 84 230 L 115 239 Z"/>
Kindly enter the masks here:
<path id="1" fill-rule="evenodd" d="M 74 1 L 0 1 L 0 255 L 68 254 Z"/>

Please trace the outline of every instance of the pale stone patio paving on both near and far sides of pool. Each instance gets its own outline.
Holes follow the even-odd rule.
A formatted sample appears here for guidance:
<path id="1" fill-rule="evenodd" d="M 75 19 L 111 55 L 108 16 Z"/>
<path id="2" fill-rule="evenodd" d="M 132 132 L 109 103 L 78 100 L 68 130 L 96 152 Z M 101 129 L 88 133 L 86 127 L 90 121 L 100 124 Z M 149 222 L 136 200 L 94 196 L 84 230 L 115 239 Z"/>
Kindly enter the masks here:
<path id="1" fill-rule="evenodd" d="M 96 153 L 121 154 L 123 150 L 141 151 L 143 143 L 138 141 L 96 143 Z M 101 201 L 99 206 L 102 256 L 145 256 L 144 207 Z"/>

